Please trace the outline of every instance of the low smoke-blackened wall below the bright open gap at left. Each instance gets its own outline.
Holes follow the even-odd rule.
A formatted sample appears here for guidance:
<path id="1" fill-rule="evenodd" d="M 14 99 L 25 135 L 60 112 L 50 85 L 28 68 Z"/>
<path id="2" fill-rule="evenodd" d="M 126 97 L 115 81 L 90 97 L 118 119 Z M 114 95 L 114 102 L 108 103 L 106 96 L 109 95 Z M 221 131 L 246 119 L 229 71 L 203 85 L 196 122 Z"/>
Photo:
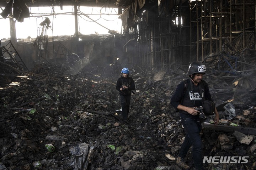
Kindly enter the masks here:
<path id="1" fill-rule="evenodd" d="M 5 62 L 10 62 L 13 57 L 28 69 L 42 63 L 65 65 L 70 61 L 86 60 L 104 65 L 116 60 L 114 36 L 92 34 L 79 35 L 79 38 L 79 41 L 73 36 L 28 38 L 17 42 L 2 40 L 1 49 Z"/>

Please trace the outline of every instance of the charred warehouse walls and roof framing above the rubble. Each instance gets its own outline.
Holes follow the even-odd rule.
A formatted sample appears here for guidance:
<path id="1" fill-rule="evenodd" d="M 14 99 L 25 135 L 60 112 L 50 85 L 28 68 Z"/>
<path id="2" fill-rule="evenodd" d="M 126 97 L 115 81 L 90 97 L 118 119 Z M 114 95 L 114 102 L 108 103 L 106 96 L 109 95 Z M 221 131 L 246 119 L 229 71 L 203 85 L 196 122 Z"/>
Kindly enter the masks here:
<path id="1" fill-rule="evenodd" d="M 81 15 L 76 12 L 79 6 L 117 8 L 119 17 L 122 19 L 122 31 L 118 33 L 109 30 L 111 36 L 108 35 L 102 40 L 102 42 L 106 40 L 115 42 L 111 43 L 114 46 L 108 46 L 109 43 L 103 43 L 103 45 L 100 43 L 102 52 L 93 55 L 89 52 L 92 50 L 88 51 L 88 49 L 93 48 L 91 40 L 97 38 L 91 37 L 94 35 L 79 35 L 77 26 L 74 24 L 76 32 L 70 39 L 63 42 L 64 45 L 58 44 L 58 39 L 53 40 L 54 35 L 50 35 L 50 32 L 44 29 L 45 31 L 34 42 L 38 41 L 39 44 L 41 42 L 46 46 L 45 49 L 40 49 L 40 45 L 37 51 L 34 51 L 35 49 L 31 46 L 27 47 L 31 55 L 25 57 L 24 50 L 18 49 L 20 46 L 24 49 L 24 45 L 19 42 L 17 45 L 16 42 L 15 21 L 22 22 L 24 17 L 31 17 L 29 7 L 63 5 L 74 6 L 76 9 L 74 20 Z M 206 58 L 219 56 L 222 52 L 231 57 L 240 56 L 241 53 L 246 55 L 251 50 L 255 50 L 256 46 L 254 0 L 22 0 L 9 1 L 9 3 L 1 0 L 0 6 L 1 17 L 9 17 L 12 25 L 9 46 L 13 46 L 16 51 L 12 51 L 11 54 L 17 53 L 23 64 L 28 65 L 27 68 L 33 67 L 36 61 L 40 63 L 42 60 L 54 60 L 56 62 L 61 48 L 77 54 L 80 58 L 86 57 L 89 61 L 89 57 L 94 60 L 93 56 L 98 56 L 96 60 L 100 59 L 102 62 L 96 64 L 114 63 L 116 58 L 124 58 L 126 63 L 130 64 L 129 66 L 137 64 L 146 70 L 169 71 L 176 70 L 179 66 L 191 61 L 204 61 Z M 44 18 L 47 20 L 48 17 Z M 47 27 L 47 22 L 43 23 L 41 29 Z M 1 46 L 6 46 L 8 43 L 2 42 Z M 32 60 L 28 59 L 30 57 Z"/>

